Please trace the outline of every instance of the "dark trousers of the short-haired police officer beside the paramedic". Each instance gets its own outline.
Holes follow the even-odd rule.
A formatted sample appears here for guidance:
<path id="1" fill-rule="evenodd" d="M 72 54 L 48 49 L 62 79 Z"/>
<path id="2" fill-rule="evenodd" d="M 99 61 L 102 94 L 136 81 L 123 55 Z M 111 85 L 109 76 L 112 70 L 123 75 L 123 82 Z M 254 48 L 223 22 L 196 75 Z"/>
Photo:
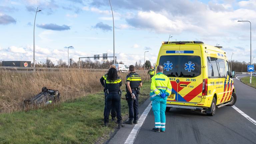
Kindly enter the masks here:
<path id="1" fill-rule="evenodd" d="M 132 90 L 132 92 L 135 94 L 136 99 L 132 99 L 131 94 L 127 93 L 127 103 L 129 107 L 129 119 L 130 120 L 138 120 L 138 114 L 139 114 L 139 94 L 136 93 L 136 91 Z"/>

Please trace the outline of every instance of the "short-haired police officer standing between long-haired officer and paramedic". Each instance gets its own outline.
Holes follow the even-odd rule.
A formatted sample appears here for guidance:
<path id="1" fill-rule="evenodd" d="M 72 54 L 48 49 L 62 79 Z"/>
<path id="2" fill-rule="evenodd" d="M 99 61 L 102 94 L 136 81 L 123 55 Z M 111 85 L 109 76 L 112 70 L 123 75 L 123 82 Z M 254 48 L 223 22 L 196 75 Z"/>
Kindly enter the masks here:
<path id="1" fill-rule="evenodd" d="M 126 124 L 138 123 L 138 107 L 139 107 L 139 93 L 142 87 L 141 77 L 135 73 L 135 67 L 129 66 L 130 73 L 126 76 L 126 100 L 129 107 L 129 120 Z"/>

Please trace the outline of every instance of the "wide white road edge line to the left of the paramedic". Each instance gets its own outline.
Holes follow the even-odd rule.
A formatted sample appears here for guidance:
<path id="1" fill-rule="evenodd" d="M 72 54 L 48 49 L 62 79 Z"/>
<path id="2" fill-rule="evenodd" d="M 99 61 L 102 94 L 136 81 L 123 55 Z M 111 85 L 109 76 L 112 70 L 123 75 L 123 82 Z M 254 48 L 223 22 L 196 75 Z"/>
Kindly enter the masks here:
<path id="1" fill-rule="evenodd" d="M 151 102 L 152 103 L 152 102 Z M 144 110 L 144 112 L 142 113 L 142 115 L 140 116 L 139 120 L 138 120 L 138 124 L 136 124 L 131 133 L 129 134 L 128 138 L 125 141 L 125 144 L 133 144 L 134 140 L 136 138 L 136 136 L 138 135 L 140 128 L 143 124 L 143 122 L 145 121 L 150 109 L 151 109 L 151 103 L 148 105 L 148 107 Z"/>

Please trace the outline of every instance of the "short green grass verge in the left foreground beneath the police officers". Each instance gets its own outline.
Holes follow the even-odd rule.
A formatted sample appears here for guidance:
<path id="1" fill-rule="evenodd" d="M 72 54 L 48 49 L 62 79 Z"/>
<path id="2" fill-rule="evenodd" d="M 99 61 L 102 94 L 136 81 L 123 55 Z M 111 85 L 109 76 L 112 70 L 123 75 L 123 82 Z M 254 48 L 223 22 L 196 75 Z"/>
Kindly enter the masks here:
<path id="1" fill-rule="evenodd" d="M 140 103 L 148 98 L 149 92 L 150 83 L 145 83 Z M 128 114 L 124 94 L 123 119 Z M 117 127 L 114 122 L 103 126 L 103 109 L 104 95 L 100 92 L 28 112 L 0 114 L 0 143 L 103 143 Z"/>

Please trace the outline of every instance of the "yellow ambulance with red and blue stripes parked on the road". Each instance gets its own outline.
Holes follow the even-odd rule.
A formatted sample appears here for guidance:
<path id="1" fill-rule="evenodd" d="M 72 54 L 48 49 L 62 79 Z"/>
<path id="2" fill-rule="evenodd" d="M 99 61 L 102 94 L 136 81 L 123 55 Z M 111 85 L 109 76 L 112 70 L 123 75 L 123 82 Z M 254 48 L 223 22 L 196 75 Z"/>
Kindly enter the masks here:
<path id="1" fill-rule="evenodd" d="M 213 116 L 216 108 L 236 102 L 234 82 L 222 47 L 201 41 L 162 42 L 157 65 L 170 79 L 170 108 L 201 110 Z"/>

